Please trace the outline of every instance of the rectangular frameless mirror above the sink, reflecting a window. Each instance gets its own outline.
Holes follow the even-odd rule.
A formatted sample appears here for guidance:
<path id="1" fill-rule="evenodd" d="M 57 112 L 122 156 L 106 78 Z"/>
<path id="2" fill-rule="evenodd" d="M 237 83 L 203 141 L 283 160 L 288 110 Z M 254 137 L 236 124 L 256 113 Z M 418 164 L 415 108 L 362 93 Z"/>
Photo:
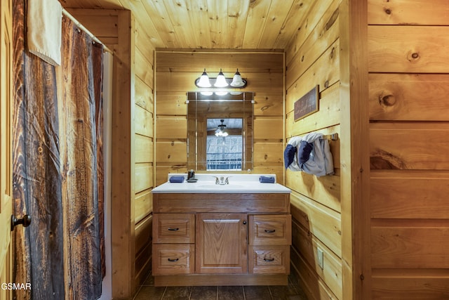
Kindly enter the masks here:
<path id="1" fill-rule="evenodd" d="M 187 169 L 253 169 L 253 92 L 187 93 Z"/>

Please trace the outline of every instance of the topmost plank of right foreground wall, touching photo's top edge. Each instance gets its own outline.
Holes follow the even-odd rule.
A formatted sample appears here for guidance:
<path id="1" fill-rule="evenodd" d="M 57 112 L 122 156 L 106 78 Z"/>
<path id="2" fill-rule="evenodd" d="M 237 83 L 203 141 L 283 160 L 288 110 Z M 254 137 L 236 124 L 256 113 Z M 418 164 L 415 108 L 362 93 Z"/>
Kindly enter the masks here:
<path id="1" fill-rule="evenodd" d="M 434 0 L 368 0 L 370 25 L 449 25 L 448 2 Z"/>

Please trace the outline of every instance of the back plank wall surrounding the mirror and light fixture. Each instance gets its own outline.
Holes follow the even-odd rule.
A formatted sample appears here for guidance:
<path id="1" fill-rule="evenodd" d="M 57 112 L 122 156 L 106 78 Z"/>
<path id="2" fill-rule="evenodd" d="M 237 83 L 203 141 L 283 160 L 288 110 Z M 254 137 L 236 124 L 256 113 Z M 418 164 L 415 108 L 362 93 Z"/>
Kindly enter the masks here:
<path id="1" fill-rule="evenodd" d="M 283 52 L 156 51 L 156 185 L 168 173 L 187 171 L 187 91 L 199 91 L 196 78 L 222 68 L 232 77 L 239 68 L 255 92 L 255 174 L 276 174 L 283 182 Z M 246 171 L 245 171 L 246 172 Z"/>

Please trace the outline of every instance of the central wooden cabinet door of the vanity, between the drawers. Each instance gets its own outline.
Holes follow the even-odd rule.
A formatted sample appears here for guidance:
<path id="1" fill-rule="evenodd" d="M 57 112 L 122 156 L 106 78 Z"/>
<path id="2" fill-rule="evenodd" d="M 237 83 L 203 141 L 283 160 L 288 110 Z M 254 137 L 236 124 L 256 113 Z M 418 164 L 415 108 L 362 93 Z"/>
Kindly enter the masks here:
<path id="1" fill-rule="evenodd" d="M 197 214 L 196 218 L 196 273 L 247 273 L 247 215 Z"/>

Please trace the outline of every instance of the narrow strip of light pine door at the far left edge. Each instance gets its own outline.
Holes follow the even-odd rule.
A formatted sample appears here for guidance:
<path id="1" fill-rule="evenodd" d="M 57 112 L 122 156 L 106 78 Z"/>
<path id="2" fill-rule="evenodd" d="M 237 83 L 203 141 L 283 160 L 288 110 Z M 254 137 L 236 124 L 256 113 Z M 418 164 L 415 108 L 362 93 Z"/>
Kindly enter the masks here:
<path id="1" fill-rule="evenodd" d="M 12 283 L 11 9 L 11 0 L 0 1 L 0 299 L 2 300 L 11 299 L 8 283 Z"/>

